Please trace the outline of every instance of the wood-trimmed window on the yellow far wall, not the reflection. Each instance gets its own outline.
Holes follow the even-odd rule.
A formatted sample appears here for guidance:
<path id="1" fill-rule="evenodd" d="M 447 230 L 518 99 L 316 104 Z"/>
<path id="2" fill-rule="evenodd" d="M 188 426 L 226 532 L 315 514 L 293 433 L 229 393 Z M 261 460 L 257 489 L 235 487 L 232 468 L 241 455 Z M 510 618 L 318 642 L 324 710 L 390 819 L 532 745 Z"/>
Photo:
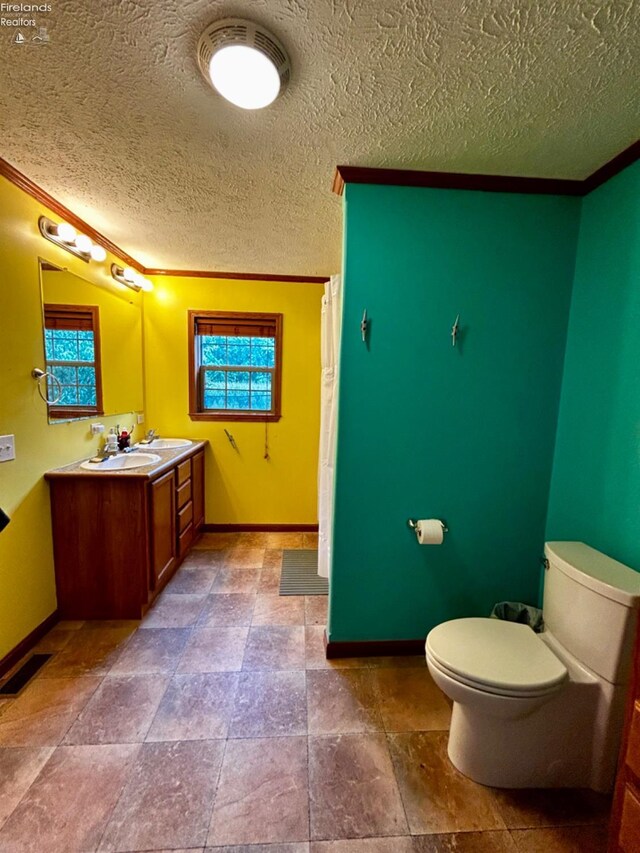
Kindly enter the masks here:
<path id="1" fill-rule="evenodd" d="M 189 311 L 192 420 L 277 421 L 282 314 Z"/>

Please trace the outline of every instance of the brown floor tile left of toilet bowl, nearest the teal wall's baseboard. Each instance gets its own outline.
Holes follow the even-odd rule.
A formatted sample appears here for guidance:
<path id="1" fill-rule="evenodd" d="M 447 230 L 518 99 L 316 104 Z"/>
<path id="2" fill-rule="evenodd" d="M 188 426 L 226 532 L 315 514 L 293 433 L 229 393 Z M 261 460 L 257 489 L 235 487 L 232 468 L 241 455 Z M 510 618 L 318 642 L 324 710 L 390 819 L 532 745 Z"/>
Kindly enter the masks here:
<path id="1" fill-rule="evenodd" d="M 451 708 L 426 667 L 372 669 L 388 732 L 447 730 Z"/>

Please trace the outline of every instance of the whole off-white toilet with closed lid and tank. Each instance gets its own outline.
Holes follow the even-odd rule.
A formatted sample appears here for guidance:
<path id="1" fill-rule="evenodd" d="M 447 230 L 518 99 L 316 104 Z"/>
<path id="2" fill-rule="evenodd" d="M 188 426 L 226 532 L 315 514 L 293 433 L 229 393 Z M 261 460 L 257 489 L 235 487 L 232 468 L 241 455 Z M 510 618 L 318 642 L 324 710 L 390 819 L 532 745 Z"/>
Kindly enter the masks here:
<path id="1" fill-rule="evenodd" d="M 612 787 L 640 573 L 582 542 L 545 546 L 545 629 L 454 619 L 426 641 L 453 700 L 449 758 L 498 788 Z"/>

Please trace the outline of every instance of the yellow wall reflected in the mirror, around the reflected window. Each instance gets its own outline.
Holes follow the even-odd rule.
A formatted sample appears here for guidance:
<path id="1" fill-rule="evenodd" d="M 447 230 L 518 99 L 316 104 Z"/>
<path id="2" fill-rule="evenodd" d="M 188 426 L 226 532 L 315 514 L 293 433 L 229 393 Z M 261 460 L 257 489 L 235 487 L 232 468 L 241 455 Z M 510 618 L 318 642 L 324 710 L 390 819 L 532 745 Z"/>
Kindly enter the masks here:
<path id="1" fill-rule="evenodd" d="M 42 271 L 45 302 L 99 308 L 105 414 L 143 408 L 140 297 L 128 288 L 119 291 L 113 285 L 113 279 L 107 287 L 97 287 L 68 271 Z M 125 426 L 128 430 L 131 424 L 121 424 L 123 429 Z"/>

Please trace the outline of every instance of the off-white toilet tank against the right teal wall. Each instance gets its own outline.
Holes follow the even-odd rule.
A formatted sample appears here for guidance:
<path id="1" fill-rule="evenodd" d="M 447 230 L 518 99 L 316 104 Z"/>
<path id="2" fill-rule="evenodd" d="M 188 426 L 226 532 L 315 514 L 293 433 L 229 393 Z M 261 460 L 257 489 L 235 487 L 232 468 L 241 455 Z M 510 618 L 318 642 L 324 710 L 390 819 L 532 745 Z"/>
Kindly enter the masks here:
<path id="1" fill-rule="evenodd" d="M 640 572 L 584 542 L 547 542 L 545 556 L 545 630 L 602 678 L 625 683 L 640 608 Z"/>

